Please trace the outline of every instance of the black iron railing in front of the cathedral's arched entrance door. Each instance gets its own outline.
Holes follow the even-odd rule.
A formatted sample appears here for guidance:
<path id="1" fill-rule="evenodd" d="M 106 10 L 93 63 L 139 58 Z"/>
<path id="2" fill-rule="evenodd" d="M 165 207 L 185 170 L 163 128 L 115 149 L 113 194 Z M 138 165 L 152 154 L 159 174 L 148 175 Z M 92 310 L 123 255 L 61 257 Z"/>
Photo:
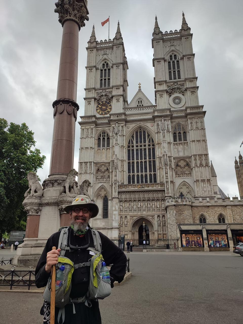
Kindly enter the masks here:
<path id="1" fill-rule="evenodd" d="M 120 249 L 123 251 L 127 250 L 127 242 L 133 241 L 132 250 L 133 251 L 143 251 L 145 250 L 178 250 L 178 239 L 177 238 L 151 238 L 146 239 L 111 239 Z M 131 248 L 130 248 L 131 250 Z"/>

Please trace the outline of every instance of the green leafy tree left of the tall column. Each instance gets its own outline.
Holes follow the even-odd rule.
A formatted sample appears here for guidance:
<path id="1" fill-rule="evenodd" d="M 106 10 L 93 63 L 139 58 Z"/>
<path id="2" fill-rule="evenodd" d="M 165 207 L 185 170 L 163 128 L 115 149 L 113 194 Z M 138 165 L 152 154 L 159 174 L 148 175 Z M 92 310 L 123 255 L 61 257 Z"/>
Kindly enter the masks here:
<path id="1" fill-rule="evenodd" d="M 0 118 L 0 239 L 5 232 L 25 230 L 22 202 L 28 189 L 27 174 L 42 168 L 46 158 L 34 148 L 33 135 L 26 123 L 8 125 Z"/>

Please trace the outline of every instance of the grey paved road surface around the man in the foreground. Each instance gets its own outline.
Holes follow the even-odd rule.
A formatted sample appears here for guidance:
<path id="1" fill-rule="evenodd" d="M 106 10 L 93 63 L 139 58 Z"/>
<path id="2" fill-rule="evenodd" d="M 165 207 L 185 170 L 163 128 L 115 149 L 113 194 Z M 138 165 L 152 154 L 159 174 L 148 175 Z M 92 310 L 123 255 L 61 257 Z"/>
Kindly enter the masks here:
<path id="1" fill-rule="evenodd" d="M 129 257 L 132 278 L 99 302 L 103 324 L 242 324 L 242 257 L 203 252 Z M 1 292 L 2 323 L 42 323 L 41 304 L 41 294 Z"/>

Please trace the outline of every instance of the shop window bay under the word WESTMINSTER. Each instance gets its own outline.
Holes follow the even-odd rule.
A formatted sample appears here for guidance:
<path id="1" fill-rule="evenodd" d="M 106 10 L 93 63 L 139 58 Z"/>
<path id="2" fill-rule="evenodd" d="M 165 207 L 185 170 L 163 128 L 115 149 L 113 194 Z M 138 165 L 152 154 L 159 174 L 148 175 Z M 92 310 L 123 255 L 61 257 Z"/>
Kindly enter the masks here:
<path id="1" fill-rule="evenodd" d="M 209 251 L 229 251 L 227 230 L 206 230 Z"/>

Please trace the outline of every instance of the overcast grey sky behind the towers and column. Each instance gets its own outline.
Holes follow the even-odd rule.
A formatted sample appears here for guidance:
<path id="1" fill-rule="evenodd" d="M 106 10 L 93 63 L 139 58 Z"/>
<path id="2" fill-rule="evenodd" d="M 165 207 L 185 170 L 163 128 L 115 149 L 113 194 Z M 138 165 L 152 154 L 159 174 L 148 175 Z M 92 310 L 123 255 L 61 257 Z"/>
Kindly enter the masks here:
<path id="1" fill-rule="evenodd" d="M 35 133 L 36 147 L 47 157 L 43 169 L 38 171 L 41 181 L 49 174 L 52 102 L 56 98 L 62 38 L 62 26 L 54 8 L 54 0 L 1 2 L 1 117 L 8 122 L 26 122 Z M 209 158 L 221 189 L 229 196 L 238 196 L 234 160 L 243 137 L 243 1 L 88 0 L 88 9 L 89 21 L 79 33 L 79 116 L 84 112 L 86 46 L 93 24 L 97 40 L 108 39 L 108 24 L 101 27 L 101 21 L 110 15 L 112 39 L 119 19 L 129 66 L 128 101 L 141 82 L 145 95 L 154 103 L 151 38 L 155 15 L 161 31 L 179 30 L 183 10 L 193 33 L 199 102 L 207 111 Z M 76 170 L 79 137 L 76 123 Z"/>

